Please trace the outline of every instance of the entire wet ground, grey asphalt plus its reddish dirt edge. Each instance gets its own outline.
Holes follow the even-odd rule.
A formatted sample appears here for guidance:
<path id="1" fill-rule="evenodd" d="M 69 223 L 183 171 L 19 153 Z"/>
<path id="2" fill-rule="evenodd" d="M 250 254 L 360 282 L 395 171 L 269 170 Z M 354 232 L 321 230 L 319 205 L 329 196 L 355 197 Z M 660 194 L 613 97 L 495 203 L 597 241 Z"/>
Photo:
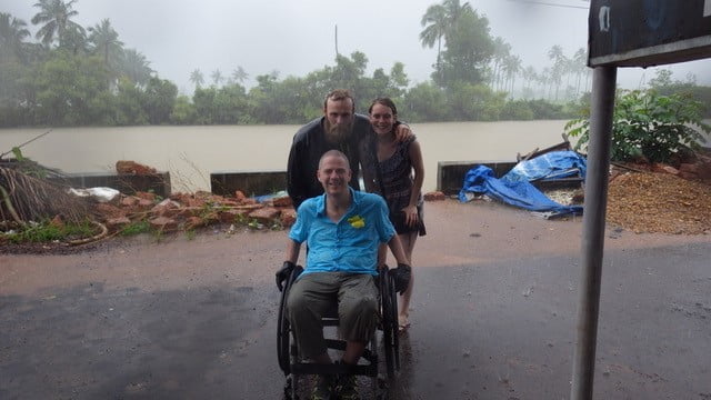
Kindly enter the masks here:
<path id="1" fill-rule="evenodd" d="M 581 221 L 425 207 L 391 398 L 568 398 Z M 0 398 L 280 398 L 273 271 L 286 234 L 0 256 Z M 709 236 L 608 230 L 595 398 L 711 398 L 710 254 Z"/>

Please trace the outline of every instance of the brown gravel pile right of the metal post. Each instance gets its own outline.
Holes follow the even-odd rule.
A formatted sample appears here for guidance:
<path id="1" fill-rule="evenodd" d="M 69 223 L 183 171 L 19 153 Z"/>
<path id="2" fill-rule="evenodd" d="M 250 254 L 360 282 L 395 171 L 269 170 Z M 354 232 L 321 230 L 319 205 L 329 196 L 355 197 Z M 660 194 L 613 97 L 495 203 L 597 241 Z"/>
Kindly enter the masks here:
<path id="1" fill-rule="evenodd" d="M 711 184 L 629 172 L 609 186 L 607 221 L 637 233 L 711 234 Z"/>

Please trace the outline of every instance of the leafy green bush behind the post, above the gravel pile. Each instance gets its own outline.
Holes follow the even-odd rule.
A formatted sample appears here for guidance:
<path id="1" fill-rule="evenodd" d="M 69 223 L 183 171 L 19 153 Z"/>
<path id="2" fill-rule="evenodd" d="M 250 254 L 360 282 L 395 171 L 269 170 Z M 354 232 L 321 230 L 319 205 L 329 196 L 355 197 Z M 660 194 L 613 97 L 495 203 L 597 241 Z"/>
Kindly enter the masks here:
<path id="1" fill-rule="evenodd" d="M 628 161 L 645 158 L 651 162 L 669 162 L 684 149 L 698 149 L 702 132 L 711 126 L 702 121 L 703 104 L 689 94 L 660 94 L 655 89 L 620 90 L 617 93 L 612 122 L 611 158 Z M 577 148 L 590 139 L 589 110 L 580 119 L 565 124 L 573 137 L 580 136 Z"/>

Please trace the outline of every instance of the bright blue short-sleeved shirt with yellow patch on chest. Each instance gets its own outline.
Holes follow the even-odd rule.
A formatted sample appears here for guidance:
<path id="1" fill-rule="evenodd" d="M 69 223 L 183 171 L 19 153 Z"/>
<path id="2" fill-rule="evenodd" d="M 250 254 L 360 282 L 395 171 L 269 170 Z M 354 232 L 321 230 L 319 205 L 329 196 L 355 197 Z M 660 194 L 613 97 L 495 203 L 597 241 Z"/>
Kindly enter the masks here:
<path id="1" fill-rule="evenodd" d="M 378 274 L 378 246 L 395 234 L 388 206 L 378 194 L 349 190 L 351 206 L 338 222 L 326 213 L 326 194 L 308 199 L 299 207 L 289 238 L 309 244 L 303 273 Z"/>

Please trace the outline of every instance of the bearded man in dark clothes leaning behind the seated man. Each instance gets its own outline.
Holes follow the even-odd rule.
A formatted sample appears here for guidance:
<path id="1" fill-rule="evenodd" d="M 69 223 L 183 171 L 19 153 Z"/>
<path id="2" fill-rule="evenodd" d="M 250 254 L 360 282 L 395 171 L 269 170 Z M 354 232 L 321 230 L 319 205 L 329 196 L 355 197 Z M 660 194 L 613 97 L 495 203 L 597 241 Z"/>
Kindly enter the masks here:
<path id="1" fill-rule="evenodd" d="M 412 134 L 410 129 L 397 123 L 399 140 Z M 287 164 L 287 191 L 293 208 L 308 198 L 323 193 L 317 180 L 319 159 L 329 150 L 339 150 L 350 160 L 353 171 L 349 186 L 356 190 L 373 192 L 378 180 L 375 136 L 365 116 L 356 113 L 356 102 L 348 90 L 337 89 L 326 96 L 323 117 L 301 127 L 293 137 Z M 365 188 L 359 183 L 362 171 Z"/>

